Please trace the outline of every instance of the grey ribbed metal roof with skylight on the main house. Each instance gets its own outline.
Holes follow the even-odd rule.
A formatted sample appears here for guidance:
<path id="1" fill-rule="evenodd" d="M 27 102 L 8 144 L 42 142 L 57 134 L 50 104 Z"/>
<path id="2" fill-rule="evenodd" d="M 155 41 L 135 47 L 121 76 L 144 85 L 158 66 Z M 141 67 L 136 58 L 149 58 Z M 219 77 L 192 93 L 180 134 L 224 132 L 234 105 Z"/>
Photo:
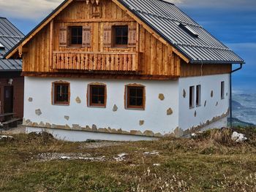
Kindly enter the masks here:
<path id="1" fill-rule="evenodd" d="M 244 64 L 242 58 L 174 4 L 162 0 L 118 1 L 187 56 L 191 63 Z M 187 30 L 182 26 L 187 26 Z"/>

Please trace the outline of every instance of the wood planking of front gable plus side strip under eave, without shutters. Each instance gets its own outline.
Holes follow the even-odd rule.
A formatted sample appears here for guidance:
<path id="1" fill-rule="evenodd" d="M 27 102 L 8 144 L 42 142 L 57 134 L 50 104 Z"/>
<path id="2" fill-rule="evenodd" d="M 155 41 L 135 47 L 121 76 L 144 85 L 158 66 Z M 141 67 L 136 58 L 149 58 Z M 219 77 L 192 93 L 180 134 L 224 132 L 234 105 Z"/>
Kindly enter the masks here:
<path id="1" fill-rule="evenodd" d="M 91 6 L 91 3 L 86 4 L 86 1 L 73 1 L 42 28 L 26 44 L 26 47 L 23 47 L 23 49 L 26 48 L 26 53 L 23 53 L 23 72 L 45 74 L 58 73 L 59 69 L 65 69 L 65 72 L 73 73 L 74 70 L 79 69 L 139 72 L 141 75 L 155 77 L 201 75 L 200 65 L 184 62 L 173 47 L 158 39 L 156 34 L 148 30 L 148 27 L 129 16 L 113 1 L 100 1 L 102 12 L 99 18 L 91 15 Z M 133 39 L 133 42 L 136 41 L 135 46 L 125 48 L 105 46 L 103 38 L 105 27 L 119 25 L 127 25 L 136 30 L 136 37 Z M 68 26 L 89 28 L 91 43 L 86 42 L 86 46 L 83 47 L 60 46 L 59 30 Z M 75 58 L 72 58 L 72 53 L 75 54 Z M 58 54 L 59 59 L 56 59 L 54 54 Z M 70 66 L 67 66 L 65 61 L 70 63 Z M 203 75 L 228 72 L 230 72 L 230 65 L 203 66 Z"/>

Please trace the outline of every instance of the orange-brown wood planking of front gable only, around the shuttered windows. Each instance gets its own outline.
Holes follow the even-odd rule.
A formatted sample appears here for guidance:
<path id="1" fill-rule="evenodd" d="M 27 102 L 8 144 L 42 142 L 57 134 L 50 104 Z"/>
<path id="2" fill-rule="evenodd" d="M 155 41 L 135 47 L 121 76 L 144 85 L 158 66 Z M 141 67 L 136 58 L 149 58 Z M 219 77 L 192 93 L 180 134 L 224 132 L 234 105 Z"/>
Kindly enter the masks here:
<path id="1" fill-rule="evenodd" d="M 110 0 L 100 1 L 102 6 L 101 18 L 91 16 L 91 4 L 85 1 L 74 1 L 54 18 L 53 22 L 42 28 L 31 41 L 26 44 L 27 53 L 23 53 L 23 72 L 58 72 L 53 67 L 53 52 L 58 52 L 59 56 L 65 58 L 67 52 L 80 52 L 80 58 L 94 58 L 88 53 L 95 53 L 99 66 L 94 66 L 94 70 L 117 70 L 118 71 L 138 71 L 140 74 L 146 75 L 165 75 L 176 77 L 180 69 L 181 58 L 173 53 L 173 48 L 160 42 L 143 26 L 132 19 L 127 12 L 124 12 L 115 3 Z M 105 26 L 128 25 L 129 28 L 136 29 L 136 46 L 127 48 L 106 47 L 103 45 L 103 33 Z M 88 47 L 62 47 L 59 46 L 59 29 L 64 26 L 88 26 L 91 28 L 91 46 Z M 61 53 L 62 52 L 62 53 Z M 108 56 L 102 56 L 99 53 L 110 53 Z M 127 66 L 126 57 L 111 53 L 127 53 L 132 63 Z M 133 53 L 136 53 L 133 55 Z M 99 55 L 97 57 L 97 55 Z M 103 54 L 104 55 L 104 54 Z M 110 58 L 108 58 L 110 57 Z M 111 59 L 113 57 L 113 59 Z M 129 60 L 129 59 L 128 59 Z M 60 60 L 61 61 L 61 60 Z M 114 61 L 110 63 L 110 61 Z M 74 69 L 87 69 L 91 66 L 72 65 Z M 104 65 L 102 65 L 102 62 Z M 89 61 L 89 64 L 92 64 Z M 116 65 L 117 64 L 117 65 Z M 58 64 L 64 67 L 63 62 Z M 69 72 L 67 67 L 66 72 Z"/>

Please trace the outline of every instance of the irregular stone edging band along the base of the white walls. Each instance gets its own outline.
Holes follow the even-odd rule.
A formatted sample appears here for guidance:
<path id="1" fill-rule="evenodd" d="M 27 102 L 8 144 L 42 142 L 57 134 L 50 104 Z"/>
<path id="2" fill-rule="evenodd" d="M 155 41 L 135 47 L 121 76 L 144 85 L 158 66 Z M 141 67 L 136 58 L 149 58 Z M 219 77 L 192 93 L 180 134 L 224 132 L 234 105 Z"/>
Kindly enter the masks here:
<path id="1" fill-rule="evenodd" d="M 80 126 L 77 124 L 73 124 L 72 127 L 70 127 L 69 125 L 56 125 L 56 124 L 50 124 L 50 123 L 44 123 L 44 122 L 40 122 L 35 123 L 35 122 L 31 122 L 31 120 L 29 119 L 23 119 L 23 126 L 30 126 L 30 127 L 38 127 L 38 128 L 54 128 L 54 129 L 64 129 L 64 130 L 70 130 L 70 131 L 91 131 L 91 132 L 98 132 L 98 133 L 106 133 L 106 134 L 128 134 L 128 135 L 137 135 L 137 136 L 147 136 L 147 137 L 182 137 L 184 135 L 188 135 L 188 134 L 192 134 L 195 133 L 196 131 L 200 131 L 204 126 L 208 126 L 211 123 L 216 122 L 217 120 L 220 120 L 222 118 L 227 117 L 227 115 L 229 114 L 229 109 L 227 110 L 226 113 L 214 117 L 211 120 L 207 120 L 206 123 L 202 123 L 200 124 L 200 126 L 196 126 L 196 127 L 192 127 L 189 128 L 185 131 L 183 131 L 181 128 L 176 128 L 173 133 L 169 133 L 169 134 L 165 134 L 162 135 L 160 133 L 154 133 L 153 131 L 150 130 L 146 130 L 144 132 L 139 131 L 139 130 L 131 130 L 131 131 L 124 131 L 121 128 L 119 128 L 118 130 L 116 128 L 97 128 L 96 125 L 92 125 L 90 126 Z"/>

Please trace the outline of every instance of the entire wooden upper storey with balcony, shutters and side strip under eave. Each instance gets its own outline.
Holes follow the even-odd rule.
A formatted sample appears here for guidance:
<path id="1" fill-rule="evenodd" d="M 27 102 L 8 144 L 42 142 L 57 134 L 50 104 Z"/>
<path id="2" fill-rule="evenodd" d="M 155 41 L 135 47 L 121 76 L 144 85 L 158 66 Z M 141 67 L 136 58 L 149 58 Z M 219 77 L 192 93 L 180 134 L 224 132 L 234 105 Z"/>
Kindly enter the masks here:
<path id="1" fill-rule="evenodd" d="M 128 27 L 127 46 L 113 45 L 115 26 Z M 82 28 L 80 46 L 71 45 L 72 27 Z M 17 53 L 25 76 L 168 80 L 202 71 L 117 0 L 66 1 L 7 58 Z M 206 68 L 205 74 L 223 74 L 231 65 Z"/>

